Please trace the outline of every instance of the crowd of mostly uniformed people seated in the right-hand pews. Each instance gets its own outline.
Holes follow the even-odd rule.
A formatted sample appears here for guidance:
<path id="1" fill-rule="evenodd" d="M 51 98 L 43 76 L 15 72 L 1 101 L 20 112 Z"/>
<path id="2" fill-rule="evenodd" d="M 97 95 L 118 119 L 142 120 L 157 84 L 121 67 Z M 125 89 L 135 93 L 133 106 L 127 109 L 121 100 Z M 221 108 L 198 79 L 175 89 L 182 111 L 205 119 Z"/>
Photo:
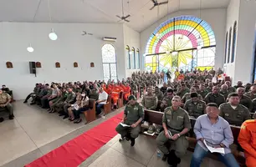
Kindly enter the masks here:
<path id="1" fill-rule="evenodd" d="M 188 142 L 185 136 L 192 128 L 190 118 L 193 118 L 196 119 L 193 131 L 197 146 L 192 155 L 192 167 L 200 166 L 209 152 L 205 143 L 214 148 L 223 148 L 224 153 L 219 154 L 219 159 L 226 166 L 239 166 L 230 149 L 238 147 L 233 144 L 230 125 L 242 126 L 238 141 L 243 148 L 247 166 L 253 166 L 256 162 L 256 121 L 250 113 L 254 113 L 256 109 L 256 84 L 243 85 L 238 81 L 232 86 L 230 81 L 212 82 L 212 78 L 214 74 L 206 70 L 193 70 L 182 79 L 174 78 L 171 81 L 169 78 L 167 83 L 158 88 L 157 83 L 162 81 L 161 73 L 133 73 L 127 82 L 136 84 L 142 90 L 145 88 L 146 94 L 143 95 L 141 104 L 136 101 L 135 96 L 129 97 L 122 120 L 129 127 L 122 124 L 116 127 L 121 135 L 120 142 L 131 140 L 133 146 L 141 131 L 143 109 L 156 110 L 164 112 L 162 126 L 151 128 L 155 126 L 151 124 L 149 129 L 156 129 L 156 144 L 164 154 L 162 160 L 167 159 L 168 164 L 177 166 L 186 154 Z M 253 117 L 255 118 L 255 114 Z M 172 141 L 171 150 L 166 147 L 169 140 Z"/>

